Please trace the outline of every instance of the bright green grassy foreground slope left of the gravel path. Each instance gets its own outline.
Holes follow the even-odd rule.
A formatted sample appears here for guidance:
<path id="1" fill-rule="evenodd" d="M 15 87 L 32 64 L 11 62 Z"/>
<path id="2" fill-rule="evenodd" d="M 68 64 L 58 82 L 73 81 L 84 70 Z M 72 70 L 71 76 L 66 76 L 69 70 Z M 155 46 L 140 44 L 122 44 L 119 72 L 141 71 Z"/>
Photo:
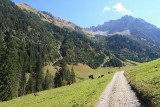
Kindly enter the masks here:
<path id="1" fill-rule="evenodd" d="M 0 107 L 91 107 L 94 106 L 112 79 L 113 74 L 103 78 L 85 80 L 71 86 L 42 91 L 0 103 Z"/>

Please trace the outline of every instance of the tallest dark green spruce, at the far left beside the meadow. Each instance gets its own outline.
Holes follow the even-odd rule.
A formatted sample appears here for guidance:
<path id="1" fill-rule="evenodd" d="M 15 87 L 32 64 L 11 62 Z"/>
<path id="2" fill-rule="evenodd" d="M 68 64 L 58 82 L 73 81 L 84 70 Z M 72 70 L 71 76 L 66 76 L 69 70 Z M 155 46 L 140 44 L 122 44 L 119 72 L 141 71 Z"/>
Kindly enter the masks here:
<path id="1" fill-rule="evenodd" d="M 19 88 L 19 64 L 18 64 L 18 51 L 15 39 L 11 36 L 11 32 L 5 33 L 5 50 L 3 56 L 3 62 L 1 71 L 3 72 L 2 77 L 4 79 L 2 84 L 2 91 L 4 91 L 4 98 L 2 100 L 9 100 L 18 96 Z"/>

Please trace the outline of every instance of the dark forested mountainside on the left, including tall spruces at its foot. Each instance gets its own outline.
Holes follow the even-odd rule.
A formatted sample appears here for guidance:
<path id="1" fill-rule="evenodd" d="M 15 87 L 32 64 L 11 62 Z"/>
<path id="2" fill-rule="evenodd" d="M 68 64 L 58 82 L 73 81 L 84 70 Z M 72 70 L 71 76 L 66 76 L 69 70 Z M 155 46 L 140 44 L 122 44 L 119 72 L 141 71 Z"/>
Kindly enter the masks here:
<path id="1" fill-rule="evenodd" d="M 42 67 L 61 57 L 92 68 L 103 63 L 105 55 L 84 33 L 43 21 L 10 0 L 0 0 L 0 10 L 0 100 L 43 90 Z"/>

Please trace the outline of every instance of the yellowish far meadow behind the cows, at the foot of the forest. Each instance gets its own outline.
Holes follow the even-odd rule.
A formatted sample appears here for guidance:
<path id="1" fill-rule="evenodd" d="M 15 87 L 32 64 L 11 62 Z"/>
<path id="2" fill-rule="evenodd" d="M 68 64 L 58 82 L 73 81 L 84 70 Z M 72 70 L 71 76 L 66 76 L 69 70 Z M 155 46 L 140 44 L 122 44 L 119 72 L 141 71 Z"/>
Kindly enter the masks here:
<path id="1" fill-rule="evenodd" d="M 78 65 L 68 65 L 68 68 L 71 70 L 72 67 L 74 69 L 74 72 L 76 74 L 76 81 L 79 82 L 81 80 L 88 79 L 89 75 L 94 75 L 95 78 L 97 78 L 100 75 L 108 74 L 108 72 L 115 72 L 115 71 L 121 71 L 126 70 L 130 67 L 133 67 L 134 65 L 138 65 L 139 63 L 127 61 L 125 62 L 124 67 L 121 67 L 120 69 L 118 67 L 99 67 L 97 69 L 92 69 L 88 65 L 85 64 L 78 64 Z M 49 72 L 54 76 L 56 69 L 52 66 L 52 63 L 49 63 L 43 68 L 43 72 L 46 73 L 47 69 Z"/>

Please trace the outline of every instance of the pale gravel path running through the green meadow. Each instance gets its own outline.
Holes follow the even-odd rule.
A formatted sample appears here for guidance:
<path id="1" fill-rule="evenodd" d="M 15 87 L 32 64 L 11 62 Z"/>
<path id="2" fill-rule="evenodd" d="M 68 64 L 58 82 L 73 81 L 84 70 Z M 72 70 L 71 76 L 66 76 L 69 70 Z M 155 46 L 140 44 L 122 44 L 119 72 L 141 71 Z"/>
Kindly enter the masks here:
<path id="1" fill-rule="evenodd" d="M 115 73 L 96 107 L 144 107 L 128 84 L 124 71 Z"/>

